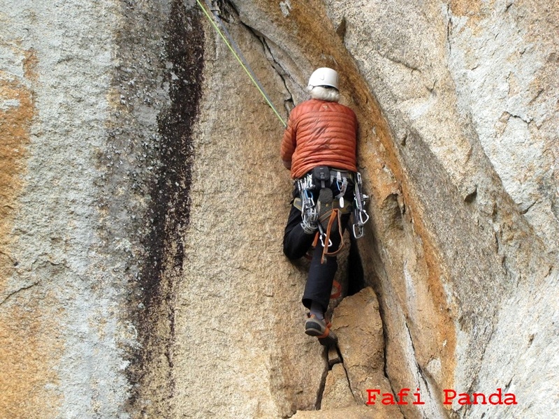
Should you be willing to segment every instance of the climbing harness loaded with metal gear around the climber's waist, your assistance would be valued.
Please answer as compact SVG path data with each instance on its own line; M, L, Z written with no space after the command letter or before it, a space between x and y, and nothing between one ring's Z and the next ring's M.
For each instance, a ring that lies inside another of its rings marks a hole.
M334 197L331 184L336 182L339 193ZM344 195L349 184L354 184L354 202L345 203ZM317 230L314 237L313 246L317 246L320 240L324 251L322 253L322 263L326 262L326 256L334 256L339 253L344 241L342 238L341 218L342 214L353 211L354 224L352 230L356 239L363 237L363 226L369 221L369 215L365 211L365 204L368 196L362 191L362 180L359 172L347 172L335 170L326 166L319 166L311 170L307 175L296 181L300 198L293 200L293 205L301 211L301 226L307 234L312 234ZM315 201L314 194L318 193ZM331 234L335 231L340 233L340 247L335 251L328 251L332 247Z

